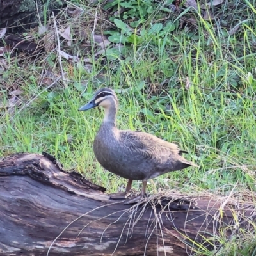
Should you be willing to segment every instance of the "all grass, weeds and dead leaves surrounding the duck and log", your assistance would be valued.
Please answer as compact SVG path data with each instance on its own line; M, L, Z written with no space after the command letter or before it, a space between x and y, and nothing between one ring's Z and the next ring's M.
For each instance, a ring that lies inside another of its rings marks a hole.
M102 111L77 111L109 86L120 101L120 129L175 142L200 165L150 180L148 193L232 194L255 203L255 6L71 0L58 15L45 9L40 26L22 35L44 51L0 57L0 157L46 151L109 193L124 189L93 155ZM217 254L196 255L256 255L254 228L214 239L222 244Z

